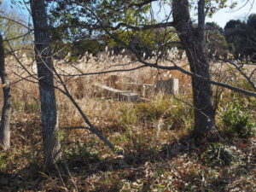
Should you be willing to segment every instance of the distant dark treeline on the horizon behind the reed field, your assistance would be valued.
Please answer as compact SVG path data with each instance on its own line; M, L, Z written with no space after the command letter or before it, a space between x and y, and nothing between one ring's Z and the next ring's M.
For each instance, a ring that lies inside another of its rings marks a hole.
M57 29L53 33L53 44L55 49L61 49L60 58L63 58L67 53L71 53L72 59L76 60L85 52L97 55L103 51L106 46L112 49L115 54L120 54L125 47L117 43L108 34L99 32L97 35L87 37L76 37L65 39L67 31ZM140 47L140 51L145 53L148 57L152 55L150 50L159 49L159 45L163 39L172 38L172 42L166 44L162 49L165 52L167 49L177 47L183 49L181 44L178 44L179 39L177 33L171 28L150 29L143 32L117 30L113 35L121 39L125 43L129 43L132 37L140 38L140 45L147 46ZM206 23L206 43L208 56L233 56L235 59L253 61L256 60L256 14L251 14L246 21L230 20L226 23L224 28L218 26L216 22Z

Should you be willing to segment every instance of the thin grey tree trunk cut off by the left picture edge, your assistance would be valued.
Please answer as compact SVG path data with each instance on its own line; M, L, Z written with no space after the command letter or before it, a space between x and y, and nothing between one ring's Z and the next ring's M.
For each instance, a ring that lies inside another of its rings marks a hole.
M3 84L3 110L2 118L0 123L0 143L3 144L3 149L10 147L10 131L9 122L12 110L12 101L9 87L9 80L7 73L5 72L4 64L4 49L3 49L3 38L0 34L0 76Z

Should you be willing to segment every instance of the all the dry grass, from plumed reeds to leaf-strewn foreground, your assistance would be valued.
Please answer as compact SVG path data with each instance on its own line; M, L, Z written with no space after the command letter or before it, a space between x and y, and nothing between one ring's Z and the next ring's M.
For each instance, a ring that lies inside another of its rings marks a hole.
M119 66L111 66L127 63L127 59L121 57L100 61L95 61L95 58L84 60L75 64L84 73L119 69ZM186 60L178 62L180 66L187 64ZM20 71L15 61L8 63L12 82L19 78L11 70L26 77L26 73ZM60 61L55 61L55 64L58 64L60 73L61 69L77 73L73 67L61 64ZM125 67L137 65L132 63ZM28 69L32 71L34 66ZM38 85L27 81L14 84L12 147L8 151L0 151L0 191L75 191L76 188L79 191L106 192L255 191L255 137L228 138L219 131L224 138L222 142L212 133L209 139L198 143L190 137L193 108L173 96L151 92L148 94L148 102L118 102L106 98L101 90L92 86L94 82L107 84L108 80L105 79L118 75L120 78L117 81L120 82L116 84L117 88L133 89L141 94L137 87L124 86L124 81L132 78L137 83L154 84L155 80L168 79L171 74L182 84L182 94L178 97L192 102L190 79L176 71L168 73L143 68L130 73L65 78L70 91L91 122L117 148L130 153L133 160L125 160L113 154L89 131L60 129L63 159L56 164L59 172L44 172L42 167ZM224 128L221 113L230 99L247 103L246 110L252 113L253 118L256 117L256 100L235 95L228 91L223 94L226 98L221 100L217 114L220 130ZM84 120L67 97L59 91L56 91L56 97L60 126L84 125ZM208 164L206 154L212 151L214 143L224 144L238 156L238 160L229 166Z

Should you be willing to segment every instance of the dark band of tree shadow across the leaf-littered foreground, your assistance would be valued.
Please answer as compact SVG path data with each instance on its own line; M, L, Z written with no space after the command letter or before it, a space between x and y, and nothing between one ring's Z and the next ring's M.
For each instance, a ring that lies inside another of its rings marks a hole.
M75 186L79 188L79 191L87 191L85 190L86 185L91 184L87 183L87 180L91 180L92 177L102 173L111 174L113 172L119 172L122 179L131 183L140 178L147 178L144 181L142 191L149 191L151 179L154 179L154 177L147 176L147 172L145 172L147 164L165 163L183 154L189 156L197 153L200 155L207 150L210 143L216 142L219 142L218 137L211 137L211 140L209 140L195 139L190 135L184 136L178 141L162 145L159 149L137 148L129 154L132 160L120 157L100 159L97 154L90 153L80 147L77 151L67 154L65 156L66 160L57 163L55 169L50 172L46 172L44 167L38 166L42 165L42 162L32 162L15 173L0 172L0 191L70 191L75 189ZM246 174L244 172L249 168L252 169L254 163L255 159L247 167L238 167L237 171L241 171L239 174ZM201 184L201 175L191 174L183 179L191 180L191 178L194 179L193 182ZM222 177L212 179L209 185L212 186L212 189L223 189L224 191L229 183L229 175L223 174ZM117 178L115 182L108 183L108 187L105 183L90 191L119 191L121 187L119 178Z

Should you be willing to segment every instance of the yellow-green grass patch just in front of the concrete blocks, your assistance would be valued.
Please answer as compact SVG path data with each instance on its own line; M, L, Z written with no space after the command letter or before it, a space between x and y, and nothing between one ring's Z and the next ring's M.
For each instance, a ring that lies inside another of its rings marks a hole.
M191 127L193 108L171 96L156 96L150 102L133 103L119 108L118 122L120 125L134 125L139 122L155 122L163 120L163 128Z

